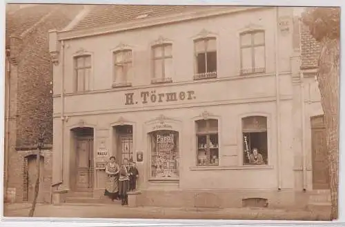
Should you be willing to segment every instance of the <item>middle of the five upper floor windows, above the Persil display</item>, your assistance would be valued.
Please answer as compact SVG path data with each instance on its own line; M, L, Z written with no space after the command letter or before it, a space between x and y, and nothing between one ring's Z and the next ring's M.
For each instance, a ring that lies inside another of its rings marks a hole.
M172 81L172 44L163 43L152 46L153 78L152 83Z

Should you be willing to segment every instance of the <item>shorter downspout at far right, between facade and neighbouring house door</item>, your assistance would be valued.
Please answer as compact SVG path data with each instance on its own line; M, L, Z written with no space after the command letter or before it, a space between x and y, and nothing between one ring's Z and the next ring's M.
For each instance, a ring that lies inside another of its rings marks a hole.
M306 116L306 106L304 104L304 75L303 72L301 72L300 75L301 78L301 120L302 120L302 170L303 170L303 191L306 191L307 188L307 176L306 176L306 120L304 119L304 116Z

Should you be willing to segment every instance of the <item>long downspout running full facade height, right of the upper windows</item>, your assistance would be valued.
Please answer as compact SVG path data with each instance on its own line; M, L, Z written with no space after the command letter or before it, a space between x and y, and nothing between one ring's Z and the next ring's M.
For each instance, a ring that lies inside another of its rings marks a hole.
M278 7L275 7L275 96L276 96L276 114L277 114L277 181L278 181L278 190L282 190L282 158L280 150L280 89L279 89L279 39L278 39L278 24L279 24L279 14Z

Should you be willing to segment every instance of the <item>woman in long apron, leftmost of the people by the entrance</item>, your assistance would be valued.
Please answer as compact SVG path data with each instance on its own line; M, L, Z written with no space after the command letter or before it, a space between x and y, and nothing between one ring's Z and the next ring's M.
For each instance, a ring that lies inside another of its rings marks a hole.
M106 164L106 191L104 195L108 196L112 201L119 197L119 165L116 163L114 156L110 157L110 161Z

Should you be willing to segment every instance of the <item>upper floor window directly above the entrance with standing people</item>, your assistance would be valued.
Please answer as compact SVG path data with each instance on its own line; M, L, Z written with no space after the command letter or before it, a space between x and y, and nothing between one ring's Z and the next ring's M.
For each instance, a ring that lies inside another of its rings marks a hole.
M130 79L132 79L132 50L114 52L114 64L115 72L112 86L130 86Z

